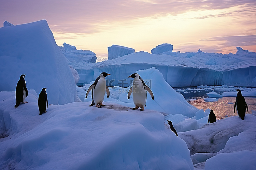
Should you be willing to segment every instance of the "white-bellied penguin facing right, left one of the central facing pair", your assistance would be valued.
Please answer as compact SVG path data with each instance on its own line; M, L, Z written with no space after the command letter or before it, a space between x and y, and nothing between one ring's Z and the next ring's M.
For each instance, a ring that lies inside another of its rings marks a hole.
M95 105L96 107L106 106L102 104L105 96L105 91L107 93L107 98L109 98L109 88L106 86L105 77L111 75L106 72L100 73L99 77L94 81L94 83L89 87L86 92L85 99L87 98L89 92L91 91L91 98L93 101L89 106Z

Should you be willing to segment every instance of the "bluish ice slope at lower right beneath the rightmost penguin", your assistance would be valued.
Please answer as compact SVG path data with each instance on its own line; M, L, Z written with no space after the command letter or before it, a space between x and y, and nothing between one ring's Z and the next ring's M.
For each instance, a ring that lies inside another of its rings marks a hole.
M206 160L205 170L255 169L255 121L252 114L246 114L244 120L232 116L178 134L187 143L194 162Z

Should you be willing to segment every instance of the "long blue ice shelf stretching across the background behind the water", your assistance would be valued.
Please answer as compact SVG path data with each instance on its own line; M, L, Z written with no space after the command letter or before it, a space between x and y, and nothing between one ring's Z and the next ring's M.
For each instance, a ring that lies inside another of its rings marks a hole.
M210 59L209 59L210 58ZM210 61L216 64L211 64ZM172 87L193 87L199 85L227 85L256 87L256 53L240 50L236 54L215 54L198 51L163 52L161 55L135 52L83 66L72 66L80 75L77 85L89 84L100 72L110 73L109 86L128 87L128 75L156 67ZM125 80L122 84L122 80Z

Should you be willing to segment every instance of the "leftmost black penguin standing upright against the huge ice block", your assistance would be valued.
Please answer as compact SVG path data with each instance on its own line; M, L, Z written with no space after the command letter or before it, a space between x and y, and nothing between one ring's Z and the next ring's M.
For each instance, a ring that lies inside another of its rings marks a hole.
M20 75L19 81L17 83L16 91L15 91L16 104L14 108L17 108L20 102L27 103L25 102L25 98L28 97L28 89L26 87L27 84L25 81L25 75L26 74Z

